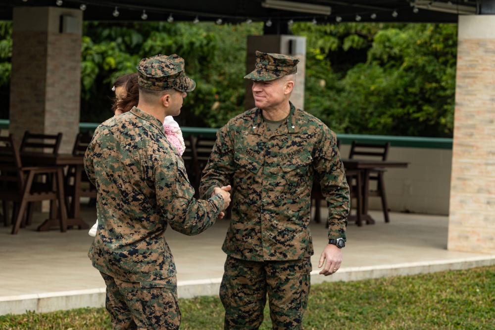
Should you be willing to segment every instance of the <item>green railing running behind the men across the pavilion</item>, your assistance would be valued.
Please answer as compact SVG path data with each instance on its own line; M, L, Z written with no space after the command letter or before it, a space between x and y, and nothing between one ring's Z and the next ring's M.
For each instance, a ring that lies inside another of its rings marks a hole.
M8 119L0 119L0 129L8 129ZM99 123L79 123L81 132L94 131ZM204 127L181 127L185 137L204 136L215 137L218 129ZM356 140L364 143L384 143L390 142L391 146L431 148L431 149L452 149L452 139L449 138L421 138L421 137L394 137L386 135L360 135L360 134L337 134L337 138L343 144L350 144Z

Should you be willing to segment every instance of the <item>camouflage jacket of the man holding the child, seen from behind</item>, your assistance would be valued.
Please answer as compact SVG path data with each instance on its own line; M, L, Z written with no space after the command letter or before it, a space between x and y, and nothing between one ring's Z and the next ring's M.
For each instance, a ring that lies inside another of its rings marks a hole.
M184 162L161 122L134 107L95 131L84 166L98 191L98 232L89 256L100 272L126 282L175 276L167 226L197 235L215 222L220 194L193 198Z

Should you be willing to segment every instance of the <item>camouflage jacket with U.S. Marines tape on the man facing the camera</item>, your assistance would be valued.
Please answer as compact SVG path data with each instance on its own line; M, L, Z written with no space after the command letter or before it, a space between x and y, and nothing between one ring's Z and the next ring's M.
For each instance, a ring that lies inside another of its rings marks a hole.
M328 202L328 238L346 239L349 187L335 133L291 103L287 122L269 131L261 109L231 119L217 133L199 187L232 185L232 219L222 249L250 260L297 260L313 254L313 176Z

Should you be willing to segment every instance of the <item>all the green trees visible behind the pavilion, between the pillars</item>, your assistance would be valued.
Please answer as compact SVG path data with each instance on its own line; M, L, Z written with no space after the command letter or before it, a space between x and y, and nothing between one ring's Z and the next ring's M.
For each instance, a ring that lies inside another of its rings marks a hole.
M221 127L244 111L247 36L261 24L85 22L81 121L111 116L118 76L141 58L176 53L197 82L177 118ZM453 24L295 23L307 38L305 110L337 133L451 137L457 26ZM0 22L0 118L8 118L10 22Z

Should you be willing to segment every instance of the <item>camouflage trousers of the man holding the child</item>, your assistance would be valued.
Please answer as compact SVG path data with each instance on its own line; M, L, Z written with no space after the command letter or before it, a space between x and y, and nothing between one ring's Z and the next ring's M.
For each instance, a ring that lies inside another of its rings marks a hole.
M177 278L124 282L101 273L106 284L106 310L112 330L179 329L181 311Z

